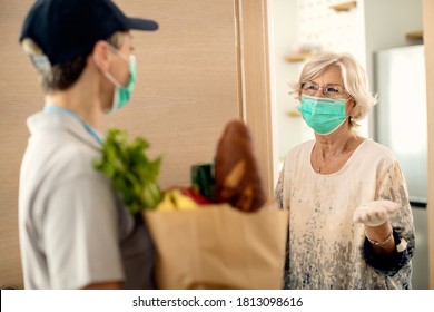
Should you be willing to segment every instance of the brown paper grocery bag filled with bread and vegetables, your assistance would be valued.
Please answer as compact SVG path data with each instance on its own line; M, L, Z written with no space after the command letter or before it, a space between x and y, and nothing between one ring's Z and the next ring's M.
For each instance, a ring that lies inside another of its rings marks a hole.
M280 289L288 212L146 212L159 289Z

